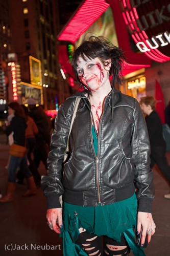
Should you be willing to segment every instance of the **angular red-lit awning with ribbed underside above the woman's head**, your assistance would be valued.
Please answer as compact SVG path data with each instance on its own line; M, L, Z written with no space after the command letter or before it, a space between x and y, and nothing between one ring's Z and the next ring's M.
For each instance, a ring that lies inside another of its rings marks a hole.
M123 49L127 57L127 65L123 75L136 70L151 66L152 60L142 53L134 53L130 47L129 34L123 19L118 1L112 0L85 0L75 12L75 15L69 20L65 28L58 35L59 40L70 41L72 44L79 39L90 26L98 19L108 7L112 8L114 22L116 27L118 45ZM66 46L59 47L59 62L64 66L67 73L75 78L72 73L72 67L69 63Z

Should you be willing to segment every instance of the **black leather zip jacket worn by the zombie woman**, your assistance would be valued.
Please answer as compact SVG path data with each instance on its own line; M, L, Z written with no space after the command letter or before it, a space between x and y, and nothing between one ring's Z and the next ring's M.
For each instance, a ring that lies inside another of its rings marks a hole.
M138 210L151 212L154 199L147 126L136 99L113 89L104 103L99 125L98 156L94 153L90 103L81 92L60 107L48 155L48 175L41 180L47 208L70 204L97 206L124 200L138 187ZM63 163L74 103L81 97ZM111 120L112 119L112 120Z

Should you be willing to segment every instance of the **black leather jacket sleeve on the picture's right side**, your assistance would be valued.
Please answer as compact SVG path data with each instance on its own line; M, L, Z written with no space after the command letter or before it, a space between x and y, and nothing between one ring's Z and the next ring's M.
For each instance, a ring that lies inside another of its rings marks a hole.
M134 127L131 140L132 158L135 165L135 181L138 188L138 211L151 212L154 199L153 173L150 168L150 141L147 125L140 105L135 99Z

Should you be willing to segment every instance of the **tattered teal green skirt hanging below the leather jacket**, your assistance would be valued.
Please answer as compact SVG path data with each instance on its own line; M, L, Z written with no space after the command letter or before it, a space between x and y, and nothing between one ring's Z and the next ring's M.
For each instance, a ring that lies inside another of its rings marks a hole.
M131 198L104 206L80 206L63 203L63 228L60 237L63 237L64 255L87 255L75 241L79 236L79 228L86 229L87 233L96 236L107 236L120 242L124 234L135 256L145 255L143 248L135 243L137 217L137 199L134 194Z

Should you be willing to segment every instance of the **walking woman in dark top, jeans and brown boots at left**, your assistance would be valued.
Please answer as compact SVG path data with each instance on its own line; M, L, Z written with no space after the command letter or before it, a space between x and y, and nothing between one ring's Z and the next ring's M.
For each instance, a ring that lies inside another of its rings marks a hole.
M13 132L14 144L25 147L26 145L26 127L27 120L21 105L18 102L11 102L8 104L9 115L14 114L10 124L6 127L5 133L9 136ZM36 195L36 185L32 173L30 172L27 164L26 155L23 157L16 157L11 155L8 165L8 188L7 194L0 199L1 203L13 201L15 188L16 188L16 170L20 166L21 172L26 177L28 182L28 191L23 196Z

